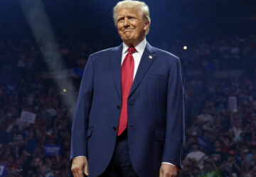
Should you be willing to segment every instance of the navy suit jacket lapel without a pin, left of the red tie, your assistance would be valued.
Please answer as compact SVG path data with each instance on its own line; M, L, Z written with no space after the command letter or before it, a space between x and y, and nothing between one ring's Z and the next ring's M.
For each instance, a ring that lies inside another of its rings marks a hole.
M112 76L114 79L114 85L117 90L120 101L122 101L121 92L121 59L122 59L122 45L114 47L112 54L110 55Z

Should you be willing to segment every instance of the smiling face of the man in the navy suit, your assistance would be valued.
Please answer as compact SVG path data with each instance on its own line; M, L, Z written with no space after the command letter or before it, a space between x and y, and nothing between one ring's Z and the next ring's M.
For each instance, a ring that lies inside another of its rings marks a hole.
M117 12L117 30L126 45L135 47L145 38L149 22L137 8L120 8Z

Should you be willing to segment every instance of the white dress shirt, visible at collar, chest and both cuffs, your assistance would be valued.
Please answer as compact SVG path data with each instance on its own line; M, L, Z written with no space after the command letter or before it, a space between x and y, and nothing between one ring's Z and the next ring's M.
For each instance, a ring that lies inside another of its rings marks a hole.
M123 50L122 50L122 61L121 61L121 66L122 66L122 62L124 62L124 57L127 55L127 53L129 52L128 49L129 47L123 42L122 43L123 46ZM134 76L133 79L135 78L135 75L137 73L138 67L139 67L139 62L142 59L142 54L144 52L146 48L146 38L144 38L144 40L142 40L142 42L139 42L139 44L137 46L135 46L135 49L137 50L137 52L134 52L132 54L132 57L134 57ZM79 156L76 156L75 158L77 158ZM73 158L73 159L75 159ZM175 166L174 164L171 164L169 162L165 162L163 161L161 164L169 164L171 166Z

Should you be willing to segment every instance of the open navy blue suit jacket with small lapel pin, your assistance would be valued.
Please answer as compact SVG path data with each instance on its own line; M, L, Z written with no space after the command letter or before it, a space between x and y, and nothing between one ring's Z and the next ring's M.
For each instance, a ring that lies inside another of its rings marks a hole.
M89 176L110 163L117 139L122 45L90 55L72 127L70 159L87 156ZM128 97L128 144L138 176L159 176L162 161L181 166L184 90L175 55L147 42Z

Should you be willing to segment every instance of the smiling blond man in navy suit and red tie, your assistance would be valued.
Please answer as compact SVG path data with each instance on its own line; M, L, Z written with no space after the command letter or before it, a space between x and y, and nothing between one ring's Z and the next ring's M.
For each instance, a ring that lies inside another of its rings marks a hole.
M149 45L149 8L120 1L122 45L90 55L72 127L71 170L83 176L176 176L182 168L184 91L175 55Z

